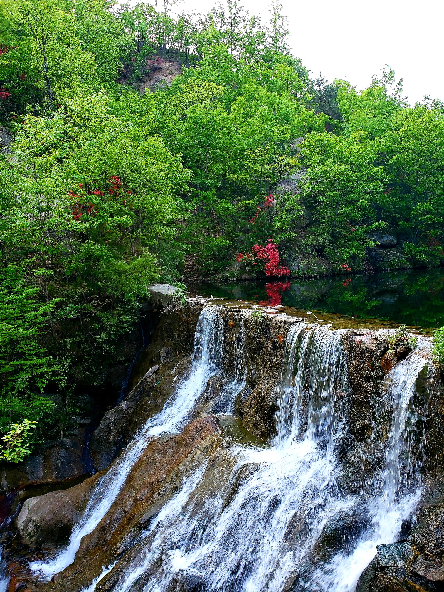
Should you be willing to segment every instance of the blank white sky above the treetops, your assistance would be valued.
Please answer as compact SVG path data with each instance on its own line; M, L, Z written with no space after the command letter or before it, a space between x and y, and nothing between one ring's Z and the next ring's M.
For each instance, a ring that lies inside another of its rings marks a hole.
M424 94L444 101L443 0L282 0L293 53L311 75L368 86L388 63L404 79L413 104ZM176 10L207 12L224 0L182 0ZM243 0L250 13L268 18L268 2Z

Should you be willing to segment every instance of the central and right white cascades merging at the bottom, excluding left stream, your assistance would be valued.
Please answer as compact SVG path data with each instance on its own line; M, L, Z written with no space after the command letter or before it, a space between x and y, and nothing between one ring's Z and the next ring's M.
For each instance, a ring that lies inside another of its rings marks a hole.
M218 461L220 481L201 471L189 478L181 511L153 523L143 554L120 576L114 592L139 589L137 581L147 570L154 575L143 592L163 592L179 575L201 579L209 592L280 592L288 581L295 590L352 592L376 545L397 539L420 497L419 472L404 467L411 462L410 436L418 417L416 381L426 363L413 353L387 377L381 404L392 413L385 466L373 494L349 496L338 485L336 449L345 429L340 397L348 390L342 332L293 325L272 447L233 446ZM229 478L227 461L235 463ZM193 479L199 485L191 493ZM349 552L310 567L324 527L362 503L370 519Z

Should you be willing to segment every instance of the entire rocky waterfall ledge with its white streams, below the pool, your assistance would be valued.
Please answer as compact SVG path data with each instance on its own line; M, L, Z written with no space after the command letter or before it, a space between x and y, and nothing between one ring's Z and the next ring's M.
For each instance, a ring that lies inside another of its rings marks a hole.
M94 474L9 488L5 590L442 590L430 338L172 293L152 288L157 327L92 434Z

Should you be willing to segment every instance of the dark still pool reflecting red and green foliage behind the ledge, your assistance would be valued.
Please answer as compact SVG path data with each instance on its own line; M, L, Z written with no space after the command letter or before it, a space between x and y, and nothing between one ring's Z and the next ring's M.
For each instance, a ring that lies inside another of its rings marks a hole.
M443 268L222 286L202 284L198 294L358 319L376 318L428 330L444 325Z

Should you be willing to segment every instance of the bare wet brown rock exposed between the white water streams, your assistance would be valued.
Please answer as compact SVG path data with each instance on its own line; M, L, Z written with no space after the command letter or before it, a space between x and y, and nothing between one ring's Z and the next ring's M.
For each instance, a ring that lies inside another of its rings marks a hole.
M158 304L153 303L153 307L161 305L160 301ZM133 439L141 424L162 409L175 391L178 381L186 375L202 305L192 301L180 310L170 310L160 317L152 341L134 370L130 393L117 407L105 414L92 437L91 451L96 469L112 464L121 449ZM179 490L185 475L189 475L193 467L201 465L204 458L208 459L207 467L211 471L211 465L215 463L221 449L221 429L212 414L218 413L221 390L236 375L236 346L238 350L242 346L241 316L244 316L245 329L242 353L247 356L247 369L246 385L235 402L236 412L240 416L239 423L242 420L243 426L256 436L268 440L274 437L285 340L289 328L297 319L277 314L254 318L250 312L239 310L223 310L222 316L224 371L214 375L208 382L192 416L190 414L188 418L189 423L184 432L150 442L128 475L111 509L94 532L82 540L74 564L45 585L33 578L23 580L30 590L82 590L101 573L103 565L112 565L118 561L114 570L97 586L97 590L112 590L120 575L146 545L145 539L143 543L140 541L141 532L149 529L159 510ZM372 473L376 474L384 461L381 454L378 456L370 445L375 404L381 396L381 384L387 372L410 351L403 350L401 346L389 349L387 337L391 333L390 330L349 330L343 335L350 388L347 392L337 394L335 406L337 413L347 419L344 435L338 442L343 473L340 486L352 494L358 494L366 481L371 482ZM424 410L423 401L416 403L418 409ZM425 427L429 458L426 468L430 475L439 474L444 466L444 428L440 427L444 426L443 414L442 392L439 397L434 396L430 403ZM247 464L233 478L231 487L226 491L227 504L234 496L239 482L248 478L256 468L254 464ZM94 475L92 480L86 480L69 490L27 500L18 517L18 531L23 543L38 549L42 543L57 545L66 542L73 524L91 497L91 487L97 478ZM444 507L443 499L442 493L437 491L435 497L427 502L429 509L423 506L420 510L422 514L419 514L411 532L404 529L405 540L397 543L398 546L391 543L381 546L378 558L362 575L358 590L411 592L443 589L439 587L442 585L439 577L444 552L444 533L441 532L441 520L444 524L444 518L441 517L440 509ZM340 514L337 520L329 523L310 559L313 561L313 570L318 561L329 558L332 550L339 551L345 545L351 545L358 538L365 520L366 517L359 513L358 508L352 513ZM295 520L286 534L286 544L297 544L298 529L304 526ZM430 529L433 531L431 536ZM142 578L138 581L134 591L142 590L152 575L147 573L146 580ZM285 590L298 590L298 577L297 574L294 576L294 588L289 581L288 585L285 584ZM413 587L404 586L407 580L414 584L411 584ZM200 577L191 577L180 571L168 588L177 592L198 592L204 589L205 582Z

